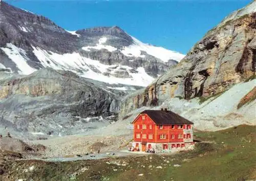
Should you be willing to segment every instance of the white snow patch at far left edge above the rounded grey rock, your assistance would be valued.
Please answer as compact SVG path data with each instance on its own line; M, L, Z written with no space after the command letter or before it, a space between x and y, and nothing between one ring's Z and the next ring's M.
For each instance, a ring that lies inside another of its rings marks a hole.
M1 48L5 54L16 64L19 74L28 75L36 71L31 66L28 65L27 60L29 58L26 55L25 50L20 49L12 43L7 43L6 47Z

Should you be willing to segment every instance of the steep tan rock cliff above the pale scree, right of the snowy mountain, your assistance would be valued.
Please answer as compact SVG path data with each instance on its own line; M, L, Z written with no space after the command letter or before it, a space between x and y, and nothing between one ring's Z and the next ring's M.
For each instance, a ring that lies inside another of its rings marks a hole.
M256 2L226 17L146 89L126 97L121 115L174 97L209 97L255 75Z

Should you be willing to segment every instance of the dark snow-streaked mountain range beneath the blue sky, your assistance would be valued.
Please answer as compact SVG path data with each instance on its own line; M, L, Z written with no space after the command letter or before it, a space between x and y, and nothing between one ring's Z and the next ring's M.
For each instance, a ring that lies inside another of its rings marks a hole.
M4 71L28 75L52 67L110 84L146 86L184 57L142 43L116 26L67 31L3 1L0 39Z

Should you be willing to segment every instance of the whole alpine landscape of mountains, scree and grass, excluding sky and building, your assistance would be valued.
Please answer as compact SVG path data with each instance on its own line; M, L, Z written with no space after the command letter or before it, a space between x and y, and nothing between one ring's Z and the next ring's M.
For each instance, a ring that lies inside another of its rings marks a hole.
M256 179L256 0L187 55L0 3L0 179ZM161 108L194 123L194 149L130 154L131 122Z

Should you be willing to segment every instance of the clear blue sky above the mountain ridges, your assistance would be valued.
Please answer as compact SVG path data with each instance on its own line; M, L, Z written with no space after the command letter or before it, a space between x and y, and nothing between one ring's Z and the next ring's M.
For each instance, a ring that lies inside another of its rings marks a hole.
M142 42L186 54L229 13L251 0L5 0L66 30L119 26Z

